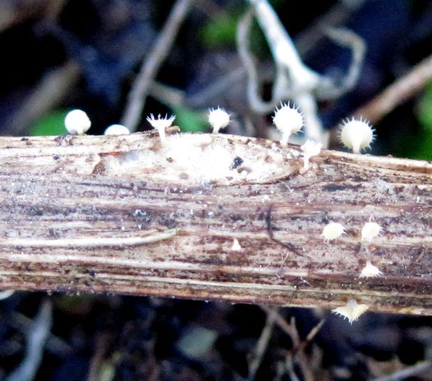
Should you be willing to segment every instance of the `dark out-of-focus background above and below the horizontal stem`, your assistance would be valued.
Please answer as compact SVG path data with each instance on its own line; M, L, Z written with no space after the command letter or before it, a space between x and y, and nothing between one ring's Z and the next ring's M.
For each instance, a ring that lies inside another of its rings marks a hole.
M432 53L428 0L270 2L304 62L320 73L341 76L350 52L321 38L317 17L337 9L330 20L367 43L353 91L320 104L325 128L337 126ZM65 114L74 108L91 118L88 133L101 134L119 123L174 3L1 0L0 134L63 134ZM157 71L138 130L150 127L144 115L170 113L182 130L208 131L208 108L220 105L232 114L227 133L272 137L271 115L251 112L245 96L236 27L246 8L245 0L193 2ZM263 77L261 95L268 99L274 64L257 24L251 36ZM432 160L432 83L375 128L372 154ZM337 142L332 148L341 149ZM52 325L42 314L47 304L52 304ZM288 322L295 317L301 338L326 317L306 350L316 380L373 379L432 360L431 317L367 313L351 327L325 311L281 308L279 313ZM265 319L259 306L15 292L0 301L0 378L20 381L11 372L27 359L33 361L29 379L34 380L247 380ZM47 341L31 349L30 338L40 327L49 328ZM41 358L29 358L29 348ZM275 327L256 380L290 380L280 368L292 348ZM299 369L294 371L302 380Z

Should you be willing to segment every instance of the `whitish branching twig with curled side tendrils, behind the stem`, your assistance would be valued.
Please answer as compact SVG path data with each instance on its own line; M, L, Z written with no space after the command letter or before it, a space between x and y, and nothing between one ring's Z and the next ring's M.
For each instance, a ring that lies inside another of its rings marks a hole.
M364 57L364 43L355 33L346 29L330 29L327 34L334 42L350 47L353 61L344 81L335 84L329 77L320 75L308 68L295 49L295 45L281 24L275 10L267 0L249 0L252 8L247 11L238 26L237 46L240 58L247 68L247 97L252 110L259 113L269 112L279 100L292 99L304 114L307 126L306 136L327 145L323 127L318 118L316 100L336 98L351 89L360 73ZM259 80L249 52L249 29L252 22L252 9L268 40L270 51L277 68L270 102L261 100Z

